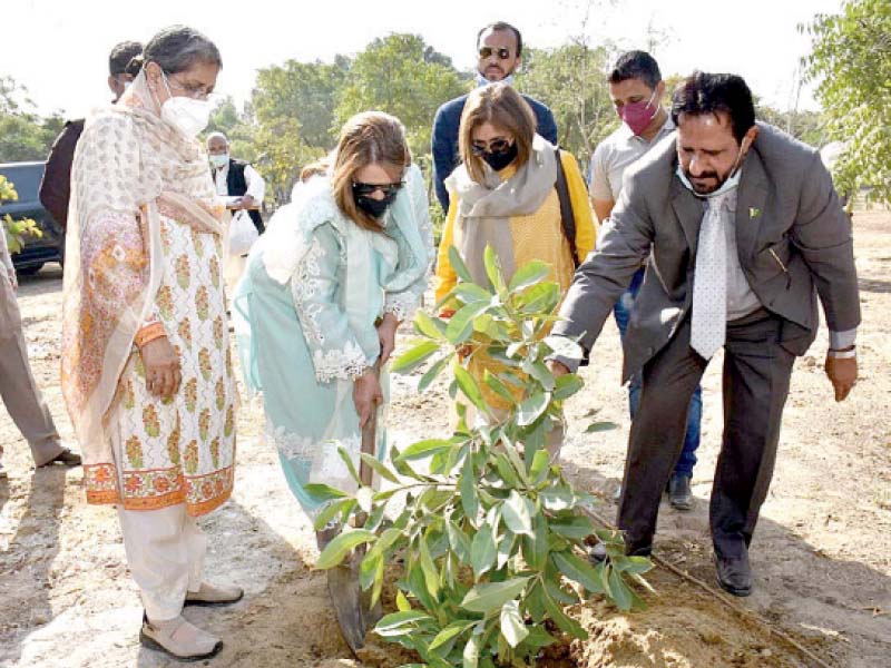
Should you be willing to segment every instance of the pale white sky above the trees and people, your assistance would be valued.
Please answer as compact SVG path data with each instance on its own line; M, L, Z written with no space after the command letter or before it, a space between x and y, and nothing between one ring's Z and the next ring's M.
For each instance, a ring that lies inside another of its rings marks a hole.
M810 40L797 26L842 0L9 0L3 2L0 76L28 88L42 114L84 116L110 98L108 52L123 40L148 41L172 23L193 26L223 55L217 90L242 102L256 70L287 59L331 61L375 37L420 33L459 69L476 65L476 33L495 20L517 26L523 42L549 48L584 35L621 49L653 50L664 76L694 69L742 75L770 105L790 109L799 90L799 60ZM585 17L587 16L587 21ZM547 102L547 100L545 100ZM799 108L815 109L805 85Z

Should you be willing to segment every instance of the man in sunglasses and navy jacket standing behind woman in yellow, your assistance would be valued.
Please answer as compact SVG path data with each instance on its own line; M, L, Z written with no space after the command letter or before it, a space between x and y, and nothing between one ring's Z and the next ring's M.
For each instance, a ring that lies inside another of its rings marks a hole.
M477 35L477 85L495 81L513 82L513 72L522 62L522 36L510 23L490 23ZM557 124L554 114L537 99L522 96L538 120L538 134L557 145ZM458 129L467 96L462 95L442 105L433 119L433 186L442 210L449 213L449 190L446 179L458 167Z

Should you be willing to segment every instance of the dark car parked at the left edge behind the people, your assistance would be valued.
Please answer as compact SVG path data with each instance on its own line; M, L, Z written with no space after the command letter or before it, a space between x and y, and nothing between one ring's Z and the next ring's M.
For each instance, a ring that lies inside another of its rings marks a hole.
M43 208L38 197L40 179L43 178L45 163L0 164L0 174L7 177L19 194L18 202L7 202L0 206L0 217L9 214L13 218L32 218L41 237L25 237L25 248L12 255L12 264L19 274L33 274L48 262L62 264L65 259L65 230Z

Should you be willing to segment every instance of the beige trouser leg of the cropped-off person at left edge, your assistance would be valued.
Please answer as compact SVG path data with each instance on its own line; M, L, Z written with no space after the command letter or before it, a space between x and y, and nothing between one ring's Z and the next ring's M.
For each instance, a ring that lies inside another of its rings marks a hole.
M46 464L65 450L31 374L19 305L12 284L3 271L0 271L0 396L16 426L31 446L35 464ZM0 455L2 453L0 445Z

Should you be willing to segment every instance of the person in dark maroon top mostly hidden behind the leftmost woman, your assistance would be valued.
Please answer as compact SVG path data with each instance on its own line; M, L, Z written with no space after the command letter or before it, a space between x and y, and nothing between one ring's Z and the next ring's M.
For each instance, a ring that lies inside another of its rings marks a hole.
M133 63L134 58L143 52L143 45L136 41L125 41L115 45L108 56L108 88L117 102L134 77L139 72L138 65ZM75 147L84 131L84 119L69 120L56 138L47 158L43 169L43 180L40 183L40 203L53 220L62 229L68 226L68 199L71 191L71 163L75 159Z

